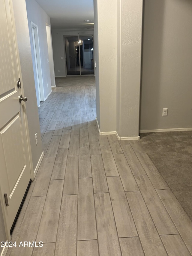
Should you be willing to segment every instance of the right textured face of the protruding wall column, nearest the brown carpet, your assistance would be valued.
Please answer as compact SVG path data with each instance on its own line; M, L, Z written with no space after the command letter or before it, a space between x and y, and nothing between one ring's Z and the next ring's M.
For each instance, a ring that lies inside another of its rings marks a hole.
M118 3L119 4L119 3ZM141 37L142 37L142 0L120 1L118 19L118 84L117 96L120 99L118 127L120 137L139 135L140 74L141 74Z

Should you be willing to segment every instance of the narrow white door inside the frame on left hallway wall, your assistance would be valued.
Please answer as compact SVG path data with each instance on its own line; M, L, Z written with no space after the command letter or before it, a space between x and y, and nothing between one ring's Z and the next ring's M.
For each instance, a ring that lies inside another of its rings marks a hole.
M34 50L34 58L35 58L35 89L36 89L36 97L37 97L37 104L40 107L41 101L41 93L40 93L40 85L39 85L39 72L38 72L38 62L37 62L37 50L36 50L36 42L35 42L35 28L32 27L32 37L33 37L33 50Z

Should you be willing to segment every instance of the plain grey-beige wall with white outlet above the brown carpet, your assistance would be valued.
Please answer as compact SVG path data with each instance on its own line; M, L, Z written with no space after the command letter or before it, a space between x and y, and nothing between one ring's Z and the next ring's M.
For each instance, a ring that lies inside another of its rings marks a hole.
M141 130L192 127L191 49L192 1L145 0Z

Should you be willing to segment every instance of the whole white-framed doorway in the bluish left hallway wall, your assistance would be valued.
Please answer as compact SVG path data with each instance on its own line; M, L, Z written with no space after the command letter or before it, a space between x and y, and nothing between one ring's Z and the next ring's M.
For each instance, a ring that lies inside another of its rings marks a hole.
M38 27L35 23L31 22L32 28L32 40L33 40L33 51L34 51L34 79L35 79L35 89L37 104L40 107L40 102L45 100L44 88L43 88L43 77L41 70L41 56L39 47L39 37L38 37Z

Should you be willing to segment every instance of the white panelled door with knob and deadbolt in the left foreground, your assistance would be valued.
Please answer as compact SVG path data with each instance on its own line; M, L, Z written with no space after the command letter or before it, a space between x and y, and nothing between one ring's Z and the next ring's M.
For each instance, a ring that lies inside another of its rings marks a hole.
M0 199L7 234L31 178L25 103L19 103L22 88L16 85L19 59L10 4L9 0L0 0ZM4 193L9 206L5 205Z

